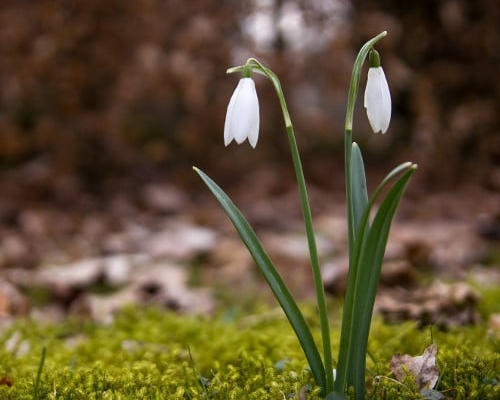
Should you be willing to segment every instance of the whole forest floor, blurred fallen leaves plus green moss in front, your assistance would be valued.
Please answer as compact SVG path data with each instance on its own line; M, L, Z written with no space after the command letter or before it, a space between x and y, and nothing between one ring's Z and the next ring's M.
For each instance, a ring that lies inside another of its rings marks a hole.
M294 397L306 398L305 388L313 386L293 332L201 182L194 191L160 181L133 189L110 185L99 195L71 180L47 186L37 173L24 171L31 180L10 175L0 185L1 393L26 399L40 393L156 399L165 393L221 398L227 391L227 398L262 399L292 390ZM296 190L263 171L227 192L314 321ZM345 204L340 195L314 185L309 194L331 322L338 327L348 268ZM439 392L425 398L444 398L436 397L441 392L495 398L499 205L499 193L472 185L425 194L410 189L404 197L370 335L370 368L389 378L372 379L369 398L415 393L411 384L392 378L389 360L408 360L398 352L422 354L429 332L439 344L438 367L446 373ZM418 329L428 326L430 331ZM334 347L338 335L333 329ZM46 348L50 365L38 389L34 368ZM213 397L208 388L215 390ZM317 390L307 398L319 398Z

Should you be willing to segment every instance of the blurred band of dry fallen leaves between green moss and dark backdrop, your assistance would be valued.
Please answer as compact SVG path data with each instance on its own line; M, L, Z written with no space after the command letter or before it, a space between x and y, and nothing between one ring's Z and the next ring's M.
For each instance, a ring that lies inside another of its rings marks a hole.
M133 190L110 186L100 196L68 179L48 186L40 168L21 173L1 184L0 318L76 313L100 320L126 304L211 313L234 299L271 301L201 181L191 192L151 182ZM311 299L295 189L260 171L227 191L292 292ZM347 274L344 201L314 185L309 192L325 286L340 297ZM389 319L473 323L477 299L467 285L500 284L499 207L498 192L473 185L434 193L410 187L390 234L377 311Z

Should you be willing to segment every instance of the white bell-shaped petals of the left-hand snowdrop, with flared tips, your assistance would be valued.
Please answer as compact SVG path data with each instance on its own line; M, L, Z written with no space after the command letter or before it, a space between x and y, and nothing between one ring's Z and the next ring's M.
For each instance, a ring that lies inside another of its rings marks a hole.
M252 78L241 78L227 106L224 144L234 139L240 144L248 138L255 148L259 139L259 99Z

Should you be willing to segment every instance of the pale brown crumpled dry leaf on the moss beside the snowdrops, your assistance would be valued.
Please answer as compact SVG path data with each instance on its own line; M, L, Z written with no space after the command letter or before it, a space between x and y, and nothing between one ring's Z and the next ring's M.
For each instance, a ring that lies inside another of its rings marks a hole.
M410 374L415 378L418 389L432 389L439 377L439 369L436 367L437 346L431 344L421 356L412 357L408 354L395 354L391 360L391 371L399 382L403 382Z

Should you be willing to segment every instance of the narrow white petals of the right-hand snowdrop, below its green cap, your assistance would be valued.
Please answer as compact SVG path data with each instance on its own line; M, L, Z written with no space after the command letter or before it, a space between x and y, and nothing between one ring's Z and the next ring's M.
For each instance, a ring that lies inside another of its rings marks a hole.
M373 132L385 133L391 122L391 93L382 67L368 70L365 108Z

